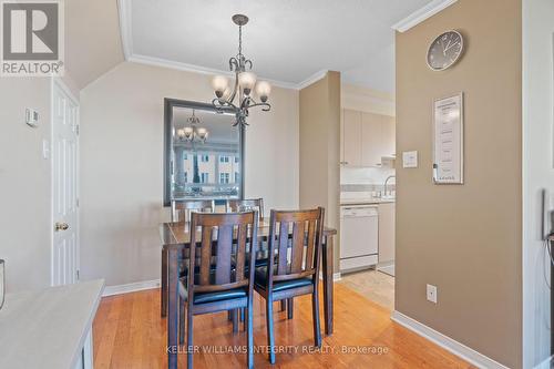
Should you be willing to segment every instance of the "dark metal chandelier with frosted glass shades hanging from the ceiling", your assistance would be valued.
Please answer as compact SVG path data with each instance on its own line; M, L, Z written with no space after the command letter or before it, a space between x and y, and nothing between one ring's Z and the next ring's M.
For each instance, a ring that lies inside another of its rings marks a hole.
M232 89L225 75L214 76L212 86L216 98L212 101L212 104L219 112L223 112L224 107L226 110L230 109L236 116L236 122L233 126L245 126L248 125L246 123L248 109L260 106L264 112L268 112L271 109L271 105L267 102L271 92L271 85L267 81L258 81L256 83L256 74L250 72L253 63L243 54L243 25L248 23L248 17L235 14L232 19L238 25L238 54L229 59L229 70L235 73L235 85ZM260 102L254 100L254 89Z

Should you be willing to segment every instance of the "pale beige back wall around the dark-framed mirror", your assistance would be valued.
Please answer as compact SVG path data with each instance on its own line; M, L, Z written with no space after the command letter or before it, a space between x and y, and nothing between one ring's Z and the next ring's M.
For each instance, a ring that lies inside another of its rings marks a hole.
M160 278L164 98L211 101L209 75L122 63L81 92L81 269L106 285ZM298 207L298 92L274 88L246 133L247 197Z

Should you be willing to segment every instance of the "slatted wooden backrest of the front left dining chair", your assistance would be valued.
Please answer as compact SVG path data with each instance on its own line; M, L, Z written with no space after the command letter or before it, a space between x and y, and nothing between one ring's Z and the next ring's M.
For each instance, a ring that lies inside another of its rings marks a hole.
M246 254L256 250L258 215L248 213L193 213L191 219L191 257L188 294L218 291L254 286L255 259L250 258L245 276ZM199 255L196 255L199 253ZM252 255L252 254L250 254ZM195 270L196 269L196 270ZM195 276L195 271L198 273ZM192 301L192 299L189 299Z

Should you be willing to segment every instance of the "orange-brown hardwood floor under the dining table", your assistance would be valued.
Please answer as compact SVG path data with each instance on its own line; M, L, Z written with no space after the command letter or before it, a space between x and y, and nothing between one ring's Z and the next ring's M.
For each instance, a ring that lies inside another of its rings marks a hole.
M324 336L320 352L314 350L310 297L295 298L295 316L275 316L277 352L275 366L267 355L255 353L256 368L472 368L465 361L390 320L390 311L343 285L335 285L335 334ZM222 351L246 345L240 329L233 335L227 314L195 317L195 368L244 368L245 353ZM160 290L105 297L93 324L94 368L165 368L166 321L160 317ZM265 348L265 307L254 301L254 340ZM365 353L343 352L365 350ZM298 351L296 351L298 350ZM186 353L179 355L186 368Z

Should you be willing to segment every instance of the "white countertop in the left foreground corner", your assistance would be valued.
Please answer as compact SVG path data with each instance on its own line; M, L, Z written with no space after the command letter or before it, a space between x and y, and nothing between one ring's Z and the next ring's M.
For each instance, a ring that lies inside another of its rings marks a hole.
M0 368L74 368L103 289L93 280L6 295Z

